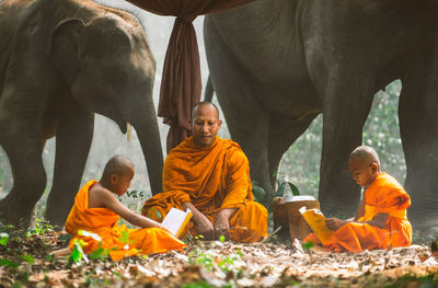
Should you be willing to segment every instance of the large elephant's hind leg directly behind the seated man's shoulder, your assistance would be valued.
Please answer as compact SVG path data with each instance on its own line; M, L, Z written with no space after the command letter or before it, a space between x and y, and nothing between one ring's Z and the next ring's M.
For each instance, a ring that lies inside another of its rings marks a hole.
M206 20L207 55L212 85L222 107L231 138L250 161L251 178L266 191L265 205L270 204L274 187L268 163L269 113L258 103L267 97L262 84L252 77L229 50L211 21ZM212 41L214 39L214 41ZM226 73L223 71L227 71Z

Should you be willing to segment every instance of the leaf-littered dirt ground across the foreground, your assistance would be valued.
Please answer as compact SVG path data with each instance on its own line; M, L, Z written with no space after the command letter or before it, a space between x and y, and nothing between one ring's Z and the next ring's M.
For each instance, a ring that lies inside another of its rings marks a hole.
M438 287L427 245L336 254L299 241L196 241L184 252L80 265L47 255L67 242L59 232L11 238L0 245L0 287Z

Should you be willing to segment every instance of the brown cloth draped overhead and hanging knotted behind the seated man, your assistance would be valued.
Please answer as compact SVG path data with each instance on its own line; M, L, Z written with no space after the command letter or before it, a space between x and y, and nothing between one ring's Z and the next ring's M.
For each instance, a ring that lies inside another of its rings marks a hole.
M158 116L171 128L168 152L191 134L191 114L199 102L199 51L192 22L198 15L219 12L254 0L127 0L159 15L176 16L165 54Z

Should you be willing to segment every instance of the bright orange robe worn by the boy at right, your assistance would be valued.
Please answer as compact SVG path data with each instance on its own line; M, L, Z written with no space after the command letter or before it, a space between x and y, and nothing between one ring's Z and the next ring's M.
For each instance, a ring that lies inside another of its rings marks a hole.
M406 217L411 198L402 185L385 172L380 173L365 191L365 215L357 222L350 222L333 234L327 247L335 251L360 252L387 249L390 245L408 246L412 242L412 227ZM361 221L372 220L377 214L389 214L383 229ZM310 234L304 242L314 240Z

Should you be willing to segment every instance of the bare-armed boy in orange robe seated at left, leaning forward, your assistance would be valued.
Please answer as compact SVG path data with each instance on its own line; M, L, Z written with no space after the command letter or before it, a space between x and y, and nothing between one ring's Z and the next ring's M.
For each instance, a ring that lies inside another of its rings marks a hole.
M76 239L81 239L87 242L84 253L99 247L108 249L111 258L117 261L139 253L162 253L185 246L184 242L160 229L160 223L130 211L117 200L115 194L122 196L126 193L134 173L134 164L128 159L115 155L106 163L100 182L90 181L78 192L66 221L66 231L73 235L70 249L73 249ZM119 217L142 229L118 226ZM93 232L99 238L80 230ZM127 234L129 239L126 241Z

